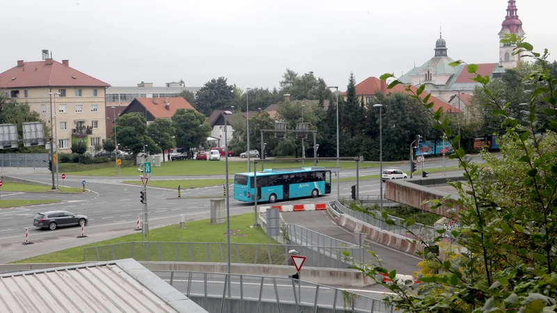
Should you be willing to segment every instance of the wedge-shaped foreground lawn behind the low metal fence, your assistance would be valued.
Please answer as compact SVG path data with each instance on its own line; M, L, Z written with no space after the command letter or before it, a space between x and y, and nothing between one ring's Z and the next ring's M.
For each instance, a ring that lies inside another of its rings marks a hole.
M271 241L265 232L260 227L250 228L253 225L253 214L242 214L230 217L230 230L233 234L230 236L231 243L274 243ZM183 262L189 262L194 259L194 262L207 262L207 245L200 244L201 242L212 242L209 246L210 262L221 262L221 248L225 255L226 262L226 223L219 225L212 225L210 220L194 220L186 223L185 229L178 228L178 225L171 225L166 227L151 230L149 234L150 241L171 241L180 242L178 251L179 259ZM115 247L114 253L118 259L130 257L132 241L141 241L141 232L135 232L127 236L121 236L115 239L91 243L86 246L79 246L58 252L48 253L46 255L39 255L38 257L31 257L23 259L15 263L50 263L50 262L82 262L84 260L84 248L93 246L102 246L115 243L122 243L120 246ZM187 242L191 245L188 246ZM195 242L200 242L196 244ZM224 243L224 244L222 244ZM175 260L175 243L161 244L161 255L164 261ZM190 255L191 248L191 255ZM231 246L233 249L234 260L237 260L236 246ZM238 254L240 259L245 260L246 263L253 263L255 256L256 246L238 246ZM280 250L280 251L279 251ZM94 249L86 250L86 261L96 260L96 252ZM101 259L113 259L112 249L110 246L106 248L99 248L99 255ZM279 259L282 257L282 261ZM146 246L141 243L134 244L134 258L139 261L146 260ZM249 261L251 258L251 261ZM272 251L273 263L284 262L284 250L276 249ZM159 253L157 246L150 246L149 258L150 261L159 261ZM267 250L263 250L262 246L258 252L258 259L265 262L267 257ZM262 263L263 264L263 263Z

